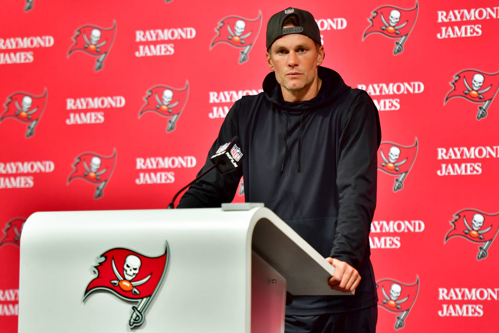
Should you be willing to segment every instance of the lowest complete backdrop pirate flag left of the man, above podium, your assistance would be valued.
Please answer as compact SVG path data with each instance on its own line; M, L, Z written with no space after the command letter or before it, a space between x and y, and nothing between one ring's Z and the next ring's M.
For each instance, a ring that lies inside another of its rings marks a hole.
M98 184L95 189L94 199L104 195L106 186L116 164L116 150L111 156L102 156L96 153L83 153L76 156L73 164L73 172L67 179L67 184L73 179L84 179L89 183Z

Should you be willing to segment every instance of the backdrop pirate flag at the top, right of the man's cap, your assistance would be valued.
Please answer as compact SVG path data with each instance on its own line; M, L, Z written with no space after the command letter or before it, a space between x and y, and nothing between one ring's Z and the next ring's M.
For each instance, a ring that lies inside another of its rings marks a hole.
M364 31L362 40L371 33L381 33L389 38L398 38L395 41L393 54L397 55L404 50L404 43L416 23L418 17L418 2L411 9L403 9L394 6L381 6L372 12L369 22L371 25Z

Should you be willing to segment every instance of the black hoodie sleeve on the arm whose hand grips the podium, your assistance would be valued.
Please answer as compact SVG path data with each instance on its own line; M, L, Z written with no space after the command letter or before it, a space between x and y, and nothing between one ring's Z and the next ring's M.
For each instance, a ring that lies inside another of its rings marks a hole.
M336 185L339 211L331 257L358 269L365 256L376 208L377 151L381 142L379 114L361 91L343 118Z

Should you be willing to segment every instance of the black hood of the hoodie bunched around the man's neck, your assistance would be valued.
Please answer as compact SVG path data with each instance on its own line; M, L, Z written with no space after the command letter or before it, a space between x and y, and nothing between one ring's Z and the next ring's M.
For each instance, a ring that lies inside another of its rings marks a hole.
M302 102L287 102L282 99L282 91L279 83L275 79L275 73L270 72L263 80L263 93L266 99L280 108L295 111L311 110L322 107L325 104L331 104L345 92L350 89L341 76L334 70L318 66L317 75L322 80L317 96L310 100Z

